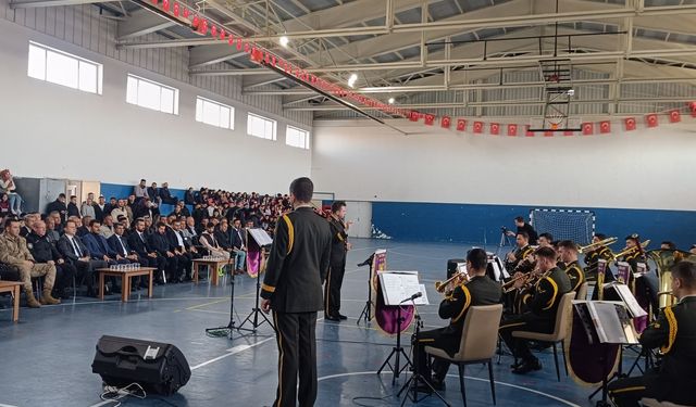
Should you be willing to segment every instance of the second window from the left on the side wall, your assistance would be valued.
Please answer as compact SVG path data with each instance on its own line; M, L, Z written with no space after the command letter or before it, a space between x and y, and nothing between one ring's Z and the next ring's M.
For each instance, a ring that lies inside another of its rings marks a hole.
M178 89L128 74L126 102L162 113L178 114Z

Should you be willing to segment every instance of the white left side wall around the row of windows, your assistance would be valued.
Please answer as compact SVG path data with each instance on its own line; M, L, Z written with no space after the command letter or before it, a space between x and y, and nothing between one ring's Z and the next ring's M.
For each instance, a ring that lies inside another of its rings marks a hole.
M28 41L35 40L104 65L103 94L79 92L27 77ZM141 177L173 188L201 185L243 191L286 191L310 173L311 154L246 135L249 106L184 82L136 68L0 18L1 167L23 177L98 179L134 183ZM179 89L179 114L127 104L126 74ZM195 122L196 96L236 107L235 130Z

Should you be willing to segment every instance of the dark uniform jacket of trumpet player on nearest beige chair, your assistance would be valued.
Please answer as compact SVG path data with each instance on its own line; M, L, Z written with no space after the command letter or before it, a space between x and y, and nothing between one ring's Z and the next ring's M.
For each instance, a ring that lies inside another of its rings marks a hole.
M468 283L458 285L452 293L439 304L439 317L450 319L443 335L455 335L461 339L464 319L469 308L476 305L500 304L502 288L488 276L475 276Z

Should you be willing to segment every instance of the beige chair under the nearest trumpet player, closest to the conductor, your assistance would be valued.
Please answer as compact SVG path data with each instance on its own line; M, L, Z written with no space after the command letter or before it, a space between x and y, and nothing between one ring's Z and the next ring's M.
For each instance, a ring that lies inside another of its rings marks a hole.
M467 313L464 330L459 344L459 352L451 357L447 352L432 346L425 346L425 353L457 365L459 367L459 386L461 399L467 407L467 392L464 390L464 367L467 365L488 364L488 380L493 404L496 404L496 385L493 380L493 356L496 353L498 326L502 316L502 305L473 306Z

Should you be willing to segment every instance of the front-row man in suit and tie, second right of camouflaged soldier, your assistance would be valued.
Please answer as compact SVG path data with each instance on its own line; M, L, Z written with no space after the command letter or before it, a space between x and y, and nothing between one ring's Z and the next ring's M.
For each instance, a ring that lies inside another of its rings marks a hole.
M76 236L77 224L75 220L65 222L64 234L58 241L58 251L66 262L75 266L76 276L87 283L87 295L97 296L95 287L95 270L109 266L107 262L91 258L91 254L85 244Z

